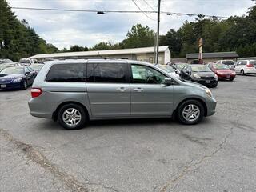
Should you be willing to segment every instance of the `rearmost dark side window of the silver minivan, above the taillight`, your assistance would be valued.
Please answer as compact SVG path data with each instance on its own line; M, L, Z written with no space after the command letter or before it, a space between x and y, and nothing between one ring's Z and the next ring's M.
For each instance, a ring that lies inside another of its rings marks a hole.
M76 64L58 64L50 68L46 76L47 82L85 82L85 65Z

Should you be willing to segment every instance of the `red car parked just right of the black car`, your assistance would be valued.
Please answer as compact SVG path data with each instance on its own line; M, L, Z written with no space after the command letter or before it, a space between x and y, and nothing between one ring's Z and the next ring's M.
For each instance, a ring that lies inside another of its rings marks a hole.
M235 78L236 74L234 70L230 70L230 68L224 64L210 63L208 66L212 71L214 71L215 74L218 75L219 80L229 79L230 81L233 81Z

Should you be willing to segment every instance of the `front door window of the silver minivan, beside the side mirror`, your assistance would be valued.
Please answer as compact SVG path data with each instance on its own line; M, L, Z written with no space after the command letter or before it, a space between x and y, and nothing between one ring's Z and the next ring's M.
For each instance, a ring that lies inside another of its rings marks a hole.
M132 82L161 84L166 76L149 66L132 65Z

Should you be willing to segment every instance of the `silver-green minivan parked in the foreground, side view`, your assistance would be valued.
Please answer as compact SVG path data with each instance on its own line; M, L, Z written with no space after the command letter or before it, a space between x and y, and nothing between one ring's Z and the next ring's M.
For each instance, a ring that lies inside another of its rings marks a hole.
M205 86L185 82L147 62L108 58L46 62L34 80L30 114L74 130L113 118L171 118L193 125L214 114Z

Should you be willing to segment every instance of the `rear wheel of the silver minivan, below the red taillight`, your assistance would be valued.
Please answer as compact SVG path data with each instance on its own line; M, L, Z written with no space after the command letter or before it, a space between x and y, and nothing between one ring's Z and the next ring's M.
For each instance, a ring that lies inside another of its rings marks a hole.
M66 104L58 110L58 123L66 130L82 129L87 121L85 110L78 104Z

